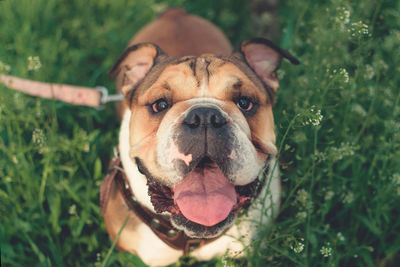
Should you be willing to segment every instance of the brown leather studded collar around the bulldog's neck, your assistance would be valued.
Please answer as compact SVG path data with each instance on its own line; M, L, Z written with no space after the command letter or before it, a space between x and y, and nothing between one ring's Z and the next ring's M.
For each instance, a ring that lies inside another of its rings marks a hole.
M172 226L169 216L156 214L142 206L136 201L136 198L132 193L119 157L115 157L112 160L108 174L100 188L100 210L102 214L104 214L107 207L108 192L110 191L113 182L117 184L128 208L132 210L148 227L150 227L153 233L156 234L164 243L174 249L182 250L184 255L187 255L190 251L204 246L221 236L211 239L190 238L183 231L179 231Z

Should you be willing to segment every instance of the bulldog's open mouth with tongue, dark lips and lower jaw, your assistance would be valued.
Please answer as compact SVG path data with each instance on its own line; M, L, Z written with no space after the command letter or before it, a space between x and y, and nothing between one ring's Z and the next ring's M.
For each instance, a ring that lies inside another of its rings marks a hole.
M172 223L192 237L218 235L233 223L239 210L250 205L261 188L259 179L235 186L209 157L203 157L181 183L172 187L146 176L155 211L170 212Z

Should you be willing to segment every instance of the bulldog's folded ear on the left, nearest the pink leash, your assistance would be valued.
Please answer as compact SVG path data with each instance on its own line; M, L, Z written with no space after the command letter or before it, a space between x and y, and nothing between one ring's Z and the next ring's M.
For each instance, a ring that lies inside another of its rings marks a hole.
M122 93L127 96L146 76L158 56L164 54L152 43L140 43L128 47L122 56L108 72L110 76L117 76Z

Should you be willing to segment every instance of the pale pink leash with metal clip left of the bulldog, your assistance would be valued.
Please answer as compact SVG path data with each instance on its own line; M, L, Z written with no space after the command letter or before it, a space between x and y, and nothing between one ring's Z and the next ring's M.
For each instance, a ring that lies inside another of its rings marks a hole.
M10 89L28 95L57 99L66 103L88 107L101 107L109 102L122 101L124 99L122 94L109 95L107 88L103 86L91 88L69 84L45 83L5 74L0 74L0 83Z

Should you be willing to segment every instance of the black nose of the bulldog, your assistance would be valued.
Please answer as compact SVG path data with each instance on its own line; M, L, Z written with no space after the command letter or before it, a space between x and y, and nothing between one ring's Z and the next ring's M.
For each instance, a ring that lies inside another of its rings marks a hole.
M191 129L199 127L221 128L227 123L225 117L216 108L199 107L192 109L183 124Z

